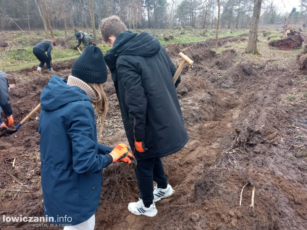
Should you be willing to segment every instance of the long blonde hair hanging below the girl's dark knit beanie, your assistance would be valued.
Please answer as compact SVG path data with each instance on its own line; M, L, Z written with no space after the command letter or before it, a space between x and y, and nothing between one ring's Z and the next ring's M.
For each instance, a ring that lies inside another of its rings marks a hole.
M92 105L95 109L95 112L97 112L101 116L101 127L99 135L101 135L101 132L103 130L103 124L104 120L106 119L107 111L109 108L107 96L104 92L105 85L104 83L89 83L87 82L89 86L95 91L96 98L92 100Z

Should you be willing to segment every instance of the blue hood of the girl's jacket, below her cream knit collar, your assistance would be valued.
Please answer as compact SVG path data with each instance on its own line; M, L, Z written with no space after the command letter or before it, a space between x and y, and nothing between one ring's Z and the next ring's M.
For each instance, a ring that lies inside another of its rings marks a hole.
M78 86L67 85L67 80L52 75L41 93L41 110L52 111L76 101L90 101L87 93Z

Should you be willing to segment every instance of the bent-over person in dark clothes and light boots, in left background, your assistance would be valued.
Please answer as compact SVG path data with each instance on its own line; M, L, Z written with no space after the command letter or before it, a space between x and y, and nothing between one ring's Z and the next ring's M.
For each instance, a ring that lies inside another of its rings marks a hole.
M33 47L33 54L41 62L37 67L38 71L41 71L45 63L46 63L48 70L53 71L51 67L51 64L53 64L52 58L51 58L51 51L52 51L52 47L55 45L56 43L54 41L43 41L43 42L37 43ZM47 55L45 52L47 52Z

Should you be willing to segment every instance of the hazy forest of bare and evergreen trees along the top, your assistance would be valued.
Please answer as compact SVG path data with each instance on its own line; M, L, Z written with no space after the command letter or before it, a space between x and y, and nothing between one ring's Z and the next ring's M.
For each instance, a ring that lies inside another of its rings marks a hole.
M307 0L300 0L300 4L300 11L293 8L285 12L283 4L263 1L259 24L306 23ZM253 0L221 0L220 7L219 28L248 28ZM129 29L176 26L213 29L217 24L217 8L216 0L0 0L0 28L1 31L35 30L48 23L53 29L64 29L66 24L67 28L85 30L92 27L92 21L98 28L102 18L118 15Z

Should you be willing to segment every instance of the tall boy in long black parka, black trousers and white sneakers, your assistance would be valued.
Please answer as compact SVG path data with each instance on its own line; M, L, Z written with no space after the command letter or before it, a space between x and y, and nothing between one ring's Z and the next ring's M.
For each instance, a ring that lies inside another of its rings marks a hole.
M148 32L128 31L119 17L100 22L103 41L109 45L109 67L131 149L138 160L135 173L140 200L128 205L136 215L153 217L154 202L173 194L161 157L179 151L187 142L173 75L177 68L165 48ZM153 187L153 181L157 186Z

